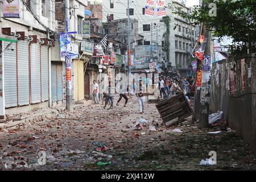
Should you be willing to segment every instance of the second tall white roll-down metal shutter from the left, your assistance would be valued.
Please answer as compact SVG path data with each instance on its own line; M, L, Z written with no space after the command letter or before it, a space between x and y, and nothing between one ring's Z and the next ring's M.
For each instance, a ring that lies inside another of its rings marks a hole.
M18 42L18 105L30 104L30 81L28 71L28 42Z

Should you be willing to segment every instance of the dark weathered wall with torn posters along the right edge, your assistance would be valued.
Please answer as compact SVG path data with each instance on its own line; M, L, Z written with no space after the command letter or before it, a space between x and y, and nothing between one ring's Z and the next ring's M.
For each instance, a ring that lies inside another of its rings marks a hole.
M242 90L241 59L222 60L212 65L210 112L224 111L224 119L251 147L256 150L256 66L255 57L245 58L245 90ZM230 93L230 69L235 67L235 91ZM248 77L251 68L251 78ZM228 81L227 81L228 80Z

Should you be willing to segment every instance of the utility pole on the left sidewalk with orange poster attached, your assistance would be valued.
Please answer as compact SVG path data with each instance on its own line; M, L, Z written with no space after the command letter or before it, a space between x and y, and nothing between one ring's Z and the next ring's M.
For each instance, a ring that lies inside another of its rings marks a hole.
M65 32L70 30L70 19L69 19L69 0L65 0ZM65 56L65 67L66 67L66 109L73 112L73 93L72 93L72 59L71 56Z

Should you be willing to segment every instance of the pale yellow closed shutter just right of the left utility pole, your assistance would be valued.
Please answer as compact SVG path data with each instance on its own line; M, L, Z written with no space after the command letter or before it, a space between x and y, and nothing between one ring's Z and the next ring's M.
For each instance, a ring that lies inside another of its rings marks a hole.
M84 61L74 61L75 101L84 100Z

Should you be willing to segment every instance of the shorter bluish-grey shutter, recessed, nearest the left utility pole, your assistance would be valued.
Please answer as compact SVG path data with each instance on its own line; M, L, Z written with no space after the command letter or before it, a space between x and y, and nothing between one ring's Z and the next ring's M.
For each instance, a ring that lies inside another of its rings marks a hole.
M63 63L60 61L52 61L51 64L51 93L52 102L63 100Z

